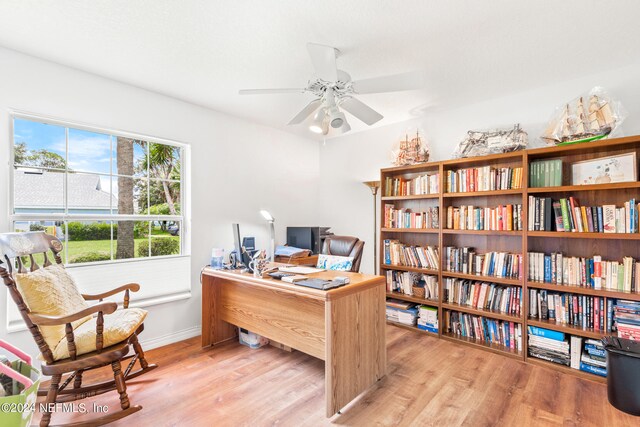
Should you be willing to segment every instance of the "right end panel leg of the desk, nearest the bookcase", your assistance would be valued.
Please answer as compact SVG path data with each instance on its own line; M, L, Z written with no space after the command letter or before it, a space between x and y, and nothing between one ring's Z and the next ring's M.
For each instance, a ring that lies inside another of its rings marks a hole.
M387 371L385 288L377 286L326 304L327 417Z

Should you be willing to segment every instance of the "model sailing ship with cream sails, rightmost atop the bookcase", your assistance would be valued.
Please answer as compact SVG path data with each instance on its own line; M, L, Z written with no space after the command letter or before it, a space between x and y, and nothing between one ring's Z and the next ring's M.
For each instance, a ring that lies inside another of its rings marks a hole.
M584 99L578 98L575 109L567 104L562 114L551 120L542 138L554 144L593 141L609 135L615 126L616 118L609 101L591 95L588 113Z

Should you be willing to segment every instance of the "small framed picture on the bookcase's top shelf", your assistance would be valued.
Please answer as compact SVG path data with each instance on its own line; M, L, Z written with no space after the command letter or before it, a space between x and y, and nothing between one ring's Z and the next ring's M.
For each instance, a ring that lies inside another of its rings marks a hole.
M638 180L636 152L584 160L571 165L573 185L611 184Z

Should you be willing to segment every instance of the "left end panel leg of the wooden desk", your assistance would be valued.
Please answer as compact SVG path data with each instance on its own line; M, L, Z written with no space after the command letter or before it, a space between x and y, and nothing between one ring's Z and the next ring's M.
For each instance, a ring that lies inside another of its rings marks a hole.
M220 319L224 279L202 276L202 347L235 338L237 329Z

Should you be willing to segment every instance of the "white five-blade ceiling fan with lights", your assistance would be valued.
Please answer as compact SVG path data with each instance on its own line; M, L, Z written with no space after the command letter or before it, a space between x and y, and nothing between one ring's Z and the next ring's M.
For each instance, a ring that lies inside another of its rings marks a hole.
M239 91L240 95L312 93L317 98L307 104L288 124L300 124L315 112L309 130L327 135L330 128L340 130L342 133L351 130L341 109L369 126L382 119L382 114L359 101L354 95L412 90L422 86L421 76L416 72L352 81L349 74L338 70L336 66L336 58L340 54L338 49L308 43L307 50L316 71L315 78L309 80L307 87L243 89Z

